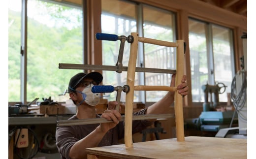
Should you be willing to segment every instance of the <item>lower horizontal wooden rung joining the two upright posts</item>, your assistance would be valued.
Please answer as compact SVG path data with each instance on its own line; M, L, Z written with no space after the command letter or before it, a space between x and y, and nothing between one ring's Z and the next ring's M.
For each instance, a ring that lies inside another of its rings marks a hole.
M169 87L169 86L134 86L134 91L177 91L177 87Z

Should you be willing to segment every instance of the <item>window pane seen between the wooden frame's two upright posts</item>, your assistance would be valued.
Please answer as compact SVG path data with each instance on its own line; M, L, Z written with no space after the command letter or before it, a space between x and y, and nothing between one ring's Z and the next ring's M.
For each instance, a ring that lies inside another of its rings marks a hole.
M153 16L154 15L154 16ZM144 37L176 42L175 16L173 13L154 7L143 6ZM148 68L176 69L176 49L159 45L144 44L144 63ZM171 74L145 73L145 85L170 86ZM164 91L146 92L147 102L156 102Z

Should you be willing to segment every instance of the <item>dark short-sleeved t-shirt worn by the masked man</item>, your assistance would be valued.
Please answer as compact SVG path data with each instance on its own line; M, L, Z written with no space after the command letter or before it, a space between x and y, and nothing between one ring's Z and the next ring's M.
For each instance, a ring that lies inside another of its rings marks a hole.
M142 109L133 115L144 115L147 108ZM96 118L100 118L99 115ZM75 115L69 118L68 120L78 119ZM132 121L132 133L140 132L141 130L149 127L153 122L147 120ZM61 159L70 159L69 150L70 148L80 139L87 136L99 124L90 124L90 125L79 125L79 126L66 126L66 127L57 127L56 128L56 146L61 154ZM110 146L118 144L118 140L124 138L125 126L124 122L119 122L119 124L110 129L102 138L98 147L101 146Z

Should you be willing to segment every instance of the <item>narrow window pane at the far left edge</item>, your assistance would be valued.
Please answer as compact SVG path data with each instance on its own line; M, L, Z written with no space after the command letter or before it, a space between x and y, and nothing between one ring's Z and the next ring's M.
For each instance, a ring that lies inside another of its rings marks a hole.
M21 97L21 0L9 0L8 16L8 83L9 100L20 101Z

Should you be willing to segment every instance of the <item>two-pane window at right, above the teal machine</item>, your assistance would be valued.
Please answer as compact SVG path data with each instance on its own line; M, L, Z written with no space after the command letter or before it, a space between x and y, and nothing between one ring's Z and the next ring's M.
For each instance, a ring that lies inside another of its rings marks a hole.
M231 39L232 32L228 28L189 20L193 102L204 102L204 92L201 87L206 84L218 84L222 87L219 101L227 101L226 94L231 91L234 76L234 64L232 63L234 53Z

